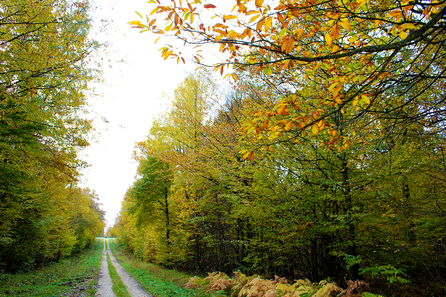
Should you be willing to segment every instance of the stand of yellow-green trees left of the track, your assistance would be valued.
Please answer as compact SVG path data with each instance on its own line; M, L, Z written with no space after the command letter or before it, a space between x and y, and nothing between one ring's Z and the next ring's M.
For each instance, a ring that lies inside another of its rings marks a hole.
M99 79L87 1L0 2L0 272L57 261L104 233L97 194L78 186Z

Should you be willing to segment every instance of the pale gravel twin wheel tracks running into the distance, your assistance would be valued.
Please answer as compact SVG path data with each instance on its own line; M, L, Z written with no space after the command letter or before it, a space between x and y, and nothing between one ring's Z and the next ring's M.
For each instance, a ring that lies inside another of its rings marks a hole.
M106 249L107 242L107 249ZM127 271L116 261L113 257L113 253L111 252L109 246L109 240L104 239L104 248L102 250L102 262L101 262L101 272L99 273L99 282L98 282L98 291L96 292L96 297L115 297L112 287L113 284L111 282L110 274L109 274L109 266L107 262L107 253L110 256L111 264L113 264L114 269L116 269L117 274L121 278L124 283L125 288L127 288L128 293L131 297L152 297L152 295L147 294L138 282L135 281L133 277L131 277Z

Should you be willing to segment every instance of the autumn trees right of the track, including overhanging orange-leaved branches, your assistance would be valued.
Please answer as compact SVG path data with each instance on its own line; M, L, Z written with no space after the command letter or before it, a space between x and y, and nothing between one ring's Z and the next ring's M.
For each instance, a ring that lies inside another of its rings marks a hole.
M135 145L120 243L188 271L445 296L444 1L149 3L129 24L193 47L162 58L231 86L197 70L173 90Z

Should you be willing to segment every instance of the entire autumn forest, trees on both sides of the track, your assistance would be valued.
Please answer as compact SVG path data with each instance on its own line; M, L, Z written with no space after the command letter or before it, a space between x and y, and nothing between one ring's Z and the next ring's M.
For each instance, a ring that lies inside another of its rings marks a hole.
M220 283L446 296L446 2L230 4L148 0L129 22L161 38L157 58L197 70L135 143L107 235ZM99 197L80 186L104 47L90 5L0 2L1 274L104 234Z

